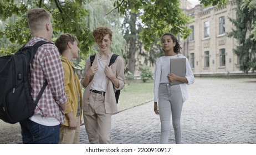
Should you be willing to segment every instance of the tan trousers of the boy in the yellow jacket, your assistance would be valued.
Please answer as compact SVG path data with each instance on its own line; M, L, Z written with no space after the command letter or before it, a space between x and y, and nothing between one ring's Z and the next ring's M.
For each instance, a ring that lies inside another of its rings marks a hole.
M80 117L76 117L76 130L71 130L68 126L60 126L59 144L77 144L80 133Z

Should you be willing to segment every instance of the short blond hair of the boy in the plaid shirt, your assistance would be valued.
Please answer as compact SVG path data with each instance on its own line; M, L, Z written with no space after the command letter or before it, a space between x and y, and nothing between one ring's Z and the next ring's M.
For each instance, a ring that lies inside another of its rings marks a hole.
M27 12L27 20L30 30L38 31L45 22L50 22L50 13L43 8L30 9Z

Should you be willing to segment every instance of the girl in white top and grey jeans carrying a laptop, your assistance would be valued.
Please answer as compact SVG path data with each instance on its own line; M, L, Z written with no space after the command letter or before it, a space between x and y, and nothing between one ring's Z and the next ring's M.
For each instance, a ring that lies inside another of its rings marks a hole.
M181 110L183 102L188 99L187 85L193 84L195 79L187 58L179 54L181 46L175 35L165 33L161 40L165 56L161 56L156 61L154 84L154 111L160 115L161 121L160 143L168 143L169 131L171 130L171 114L175 142L181 143ZM170 59L173 58L186 58L185 77L170 73ZM181 81L183 84L170 85L170 82L174 81Z

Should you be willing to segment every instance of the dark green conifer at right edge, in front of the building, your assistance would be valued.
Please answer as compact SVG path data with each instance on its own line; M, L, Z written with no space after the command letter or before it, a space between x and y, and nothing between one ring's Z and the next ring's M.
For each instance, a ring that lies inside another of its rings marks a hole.
M238 45L233 51L240 60L240 70L245 73L248 73L249 70L254 72L256 70L256 40L254 34L256 16L253 16L253 14L256 14L256 2L250 0L236 0L235 2L237 3L237 18L229 18L235 26L235 29L232 29L232 32L229 33L229 37L238 41Z

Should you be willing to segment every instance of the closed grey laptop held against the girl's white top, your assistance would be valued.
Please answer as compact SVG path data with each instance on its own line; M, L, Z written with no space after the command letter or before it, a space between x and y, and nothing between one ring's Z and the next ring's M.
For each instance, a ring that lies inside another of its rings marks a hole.
M178 76L186 76L186 58L170 59L170 73ZM183 84L181 81L171 82L171 85Z

